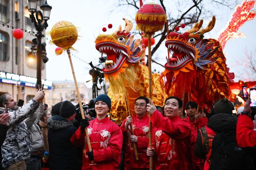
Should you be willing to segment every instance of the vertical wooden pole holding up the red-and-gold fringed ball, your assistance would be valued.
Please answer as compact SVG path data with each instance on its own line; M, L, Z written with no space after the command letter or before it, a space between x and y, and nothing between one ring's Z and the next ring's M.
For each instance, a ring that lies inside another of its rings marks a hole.
M151 71L151 35L148 34L148 82L149 82L149 98L152 99L152 71ZM151 114L148 114L149 116L149 148L152 149L152 123L150 121ZM149 157L149 170L153 170L153 157Z

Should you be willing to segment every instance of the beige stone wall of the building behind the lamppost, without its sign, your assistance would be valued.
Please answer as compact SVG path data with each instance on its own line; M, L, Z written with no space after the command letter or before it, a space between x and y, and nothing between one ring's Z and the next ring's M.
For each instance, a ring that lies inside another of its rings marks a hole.
M32 23L29 23L29 18L26 18L28 15L26 9L27 0L1 0L0 3L2 3L1 5L4 7L4 9L6 9L6 13L0 12L0 33L4 34L7 38L6 43L8 58L7 61L0 60L0 71L36 77L36 67L32 68L28 66L26 55L27 51L30 51L30 47L27 47L27 44L31 43L32 39L36 38L33 32L28 33L28 31L30 30L34 31L35 33L37 32L35 28L33 28ZM40 9L40 6L43 3L44 0L38 1L38 9ZM27 32L23 31L23 38L16 39L13 37L13 30L16 27L27 30ZM42 39L42 42L45 42L45 39ZM0 42L0 44L1 43L4 42ZM46 79L46 67L42 66L42 68L42 79ZM27 99L34 96L35 88L26 86L25 91L25 102L27 102ZM49 90L46 91L46 93L49 93ZM18 100L20 98L20 92L20 85L0 82L0 94L9 93L15 100Z

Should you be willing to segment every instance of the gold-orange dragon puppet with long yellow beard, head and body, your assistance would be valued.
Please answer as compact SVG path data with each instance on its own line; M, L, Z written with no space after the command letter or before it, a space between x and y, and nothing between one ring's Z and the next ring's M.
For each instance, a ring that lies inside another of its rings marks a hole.
M109 82L108 96L111 98L111 114L117 123L121 123L127 115L125 95L128 98L130 113L134 115L135 99L148 96L148 68L141 65L140 60L145 56L141 49L141 40L135 39L130 30L133 24L124 19L124 30L121 25L112 34L100 34L95 40L95 47L107 55L103 65L103 73ZM153 74L153 101L163 105L164 90L160 75Z

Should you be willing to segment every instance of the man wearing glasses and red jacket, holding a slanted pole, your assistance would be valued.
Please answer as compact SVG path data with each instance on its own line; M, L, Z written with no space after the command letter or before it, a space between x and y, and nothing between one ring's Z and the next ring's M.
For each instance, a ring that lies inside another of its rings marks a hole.
M148 98L140 96L135 100L135 116L128 116L121 124L121 130L125 138L125 170L148 170L149 159L147 156L148 148L148 124L147 112ZM133 131L130 124L132 123ZM132 135L133 132L133 135ZM135 159L134 145L137 147L139 160Z

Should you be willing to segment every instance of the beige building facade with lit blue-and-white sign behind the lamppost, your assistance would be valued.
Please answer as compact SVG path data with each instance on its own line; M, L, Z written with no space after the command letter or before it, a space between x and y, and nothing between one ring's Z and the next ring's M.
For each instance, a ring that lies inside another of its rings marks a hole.
M43 3L44 0L38 0L38 10ZM37 31L29 14L27 0L0 0L0 95L9 93L18 100L21 87L25 86L25 102L36 91L36 57L28 57L28 53ZM13 37L15 28L23 30L23 38ZM45 63L42 63L42 79L46 79ZM44 80L48 94L52 82Z

